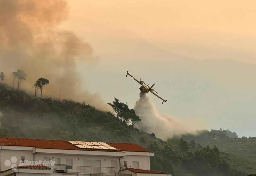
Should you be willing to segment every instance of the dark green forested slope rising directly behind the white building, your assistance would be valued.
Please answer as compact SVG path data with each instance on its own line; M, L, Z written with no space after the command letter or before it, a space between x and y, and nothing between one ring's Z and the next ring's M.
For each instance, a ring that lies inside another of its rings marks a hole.
M110 112L73 100L35 99L6 84L0 84L0 111L0 136L138 143L155 153L152 170L174 176L245 176L256 171L254 161L216 146L202 147L196 139L164 141L133 129Z

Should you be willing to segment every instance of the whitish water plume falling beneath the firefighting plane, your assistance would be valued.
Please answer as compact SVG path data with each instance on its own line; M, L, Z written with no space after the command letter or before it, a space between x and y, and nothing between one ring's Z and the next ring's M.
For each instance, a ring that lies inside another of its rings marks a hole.
M146 93L140 92L140 99L136 101L134 110L142 119L136 124L136 127L148 133L153 132L159 138L168 139L173 135L190 130L184 123L178 122L172 117L160 115Z

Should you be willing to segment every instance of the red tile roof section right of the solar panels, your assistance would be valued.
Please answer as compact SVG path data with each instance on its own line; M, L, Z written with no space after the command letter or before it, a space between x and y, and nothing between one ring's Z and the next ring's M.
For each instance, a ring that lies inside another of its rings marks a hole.
M106 142L108 145L117 148L122 151L131 151L131 152L151 152L147 148L141 147L138 144L132 143L115 143L115 142Z

